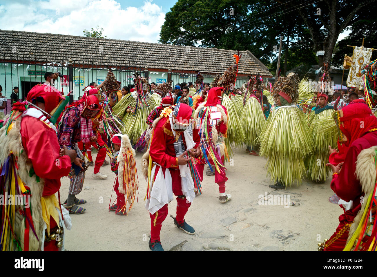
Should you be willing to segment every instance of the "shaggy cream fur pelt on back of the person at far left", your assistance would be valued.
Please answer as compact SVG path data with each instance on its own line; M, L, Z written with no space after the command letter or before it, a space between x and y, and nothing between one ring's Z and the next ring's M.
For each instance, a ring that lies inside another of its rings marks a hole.
M5 117L7 119L9 115ZM18 117L13 125L13 128L9 130L8 134L5 135L7 130L7 125L4 124L4 127L0 129L0 162L3 164L9 156L9 153L12 151L13 154L17 157L18 169L16 168L16 174L20 177L25 185L30 188L31 197L30 197L30 208L32 209L32 220L34 224L35 233L37 233L38 239L35 237L32 230L29 230L29 250L38 251L41 250L41 247L44 243L44 220L42 217L42 206L41 206L41 197L44 187L44 179L40 178L40 181L37 182L35 174L30 177L29 171L32 167L31 161L26 155L26 151L21 144L21 116ZM8 122L7 122L8 123ZM9 180L6 180L8 183ZM7 191L9 193L9 191ZM17 193L17 191L16 191ZM20 191L21 193L21 191ZM21 240L21 248L24 249L24 239L25 239L25 219L24 216L20 214L19 210L23 207L21 205L15 205L15 235ZM12 236L9 234L8 236ZM15 245L15 244L14 244ZM13 250L17 250L14 248Z

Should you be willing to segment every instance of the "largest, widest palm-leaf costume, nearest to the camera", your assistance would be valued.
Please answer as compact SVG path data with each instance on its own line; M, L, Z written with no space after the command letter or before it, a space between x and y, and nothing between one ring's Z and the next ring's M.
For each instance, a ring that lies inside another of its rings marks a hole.
M271 181L286 187L305 174L304 158L310 154L312 138L305 114L295 106L281 107L270 113L258 138L259 156L267 158Z

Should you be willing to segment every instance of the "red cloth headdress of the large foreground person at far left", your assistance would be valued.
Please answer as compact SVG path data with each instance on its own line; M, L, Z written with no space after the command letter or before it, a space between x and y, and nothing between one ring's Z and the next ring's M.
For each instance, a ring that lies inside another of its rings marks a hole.
M60 91L55 89L53 86L45 84L37 84L29 91L28 96L26 96L26 101L32 102L37 100L37 98L43 98L44 100L44 111L46 113L51 113L61 100L65 99L61 95ZM39 101L40 102L40 101Z

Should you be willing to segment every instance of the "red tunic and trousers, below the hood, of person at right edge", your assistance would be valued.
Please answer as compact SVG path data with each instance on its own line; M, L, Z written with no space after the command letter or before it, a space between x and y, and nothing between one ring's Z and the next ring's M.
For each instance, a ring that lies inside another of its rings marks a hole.
M360 182L356 179L355 176L357 156L362 150L375 145L377 145L377 132L366 133L362 137L356 139L349 147L344 164L342 166L342 170L340 170L339 174L333 175L333 180L331 181L331 189L341 199L347 202L352 200L353 207L339 216L339 226L336 233L334 233L330 239L335 237L345 224L351 223L354 220L356 214L360 211L361 197L364 196L364 193L362 193ZM346 245L347 238L348 231L344 232L343 235L339 237L339 239L326 247L325 250L343 250Z

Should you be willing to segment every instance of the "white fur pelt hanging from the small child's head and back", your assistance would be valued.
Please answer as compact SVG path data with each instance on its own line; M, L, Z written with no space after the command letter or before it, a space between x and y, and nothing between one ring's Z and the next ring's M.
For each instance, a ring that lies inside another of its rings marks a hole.
M132 155L129 155L129 152L132 154ZM130 189L132 189L130 187L130 184L126 184L124 186L124 184L126 183L126 180L124 180L124 170L129 170L129 168L124 168L125 164L124 164L124 159L127 158L128 159L128 162L129 163L133 163L136 165L135 163L135 150L132 148L132 145L131 145L131 142L130 142L130 139L127 135L123 135L122 136L122 140L121 140L121 145L120 145L120 151L119 151L119 154L118 154L118 181L119 181L119 187L118 187L118 191L122 194L125 194L125 195L129 195L128 199L126 199L126 201L128 201L129 203L131 203L131 194L132 193L129 193ZM135 168L135 171L136 171L136 168ZM138 180L136 178L136 176L131 176L130 178L133 178L135 180L135 184L136 184L136 188L135 188L135 191L133 191L133 193L136 192L136 190L138 190L139 188L139 183L138 183Z

